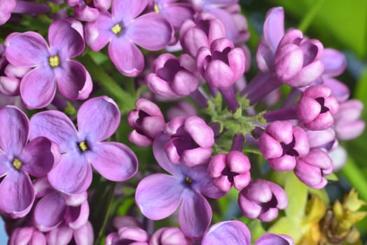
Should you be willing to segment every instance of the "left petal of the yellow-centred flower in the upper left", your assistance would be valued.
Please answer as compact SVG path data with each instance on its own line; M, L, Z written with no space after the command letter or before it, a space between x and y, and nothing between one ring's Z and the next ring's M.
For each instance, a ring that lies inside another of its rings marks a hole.
M43 36L34 31L13 36L7 45L6 59L15 66L33 67L48 62L48 45Z

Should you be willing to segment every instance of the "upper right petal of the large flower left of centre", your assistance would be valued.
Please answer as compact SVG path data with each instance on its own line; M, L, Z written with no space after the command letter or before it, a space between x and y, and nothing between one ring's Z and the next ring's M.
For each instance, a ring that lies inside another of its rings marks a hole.
M113 99L102 96L88 99L78 111L78 130L88 141L103 141L116 132L120 110Z

